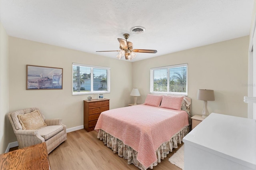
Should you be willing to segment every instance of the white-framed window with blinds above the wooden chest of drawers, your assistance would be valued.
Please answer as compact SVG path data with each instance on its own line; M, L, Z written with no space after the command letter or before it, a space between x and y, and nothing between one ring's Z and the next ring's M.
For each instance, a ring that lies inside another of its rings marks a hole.
M110 68L73 63L73 95L110 93Z

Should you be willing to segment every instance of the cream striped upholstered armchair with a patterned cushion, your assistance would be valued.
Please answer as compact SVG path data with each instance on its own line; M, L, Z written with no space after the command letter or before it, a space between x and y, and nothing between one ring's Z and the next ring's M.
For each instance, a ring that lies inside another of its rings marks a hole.
M62 119L45 119L38 108L28 108L8 114L18 147L46 142L48 154L67 139Z

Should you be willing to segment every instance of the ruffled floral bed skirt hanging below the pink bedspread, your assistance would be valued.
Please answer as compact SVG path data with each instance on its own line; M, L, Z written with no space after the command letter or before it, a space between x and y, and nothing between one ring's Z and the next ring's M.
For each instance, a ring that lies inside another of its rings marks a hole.
M104 144L107 145L108 148L111 148L114 153L118 153L118 156L127 159L129 165L134 164L141 170L146 170L147 168L153 169L153 166L156 166L157 163L161 162L161 159L166 158L166 155L169 154L169 152L172 152L172 148L178 148L178 143L181 144L182 139L188 134L188 131L189 126L186 126L182 128L180 132L176 133L169 141L162 143L156 150L157 162L152 163L149 167L144 167L138 162L138 152L132 147L124 144L122 140L119 140L102 129L99 129L97 137L100 140L103 140Z

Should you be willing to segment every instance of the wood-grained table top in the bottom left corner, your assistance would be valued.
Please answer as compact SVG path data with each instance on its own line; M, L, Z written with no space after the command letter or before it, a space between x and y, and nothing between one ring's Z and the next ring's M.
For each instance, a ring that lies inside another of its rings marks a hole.
M50 170L46 143L0 155L0 170Z

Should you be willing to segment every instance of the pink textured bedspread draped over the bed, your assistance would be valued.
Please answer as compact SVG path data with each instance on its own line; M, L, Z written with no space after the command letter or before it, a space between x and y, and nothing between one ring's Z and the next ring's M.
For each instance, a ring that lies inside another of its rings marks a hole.
M157 161L157 148L188 125L186 111L136 105L102 112L95 129L132 147L138 152L137 160L148 168Z

